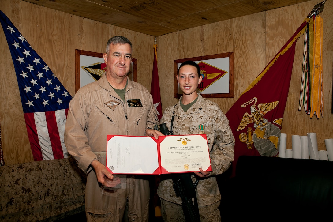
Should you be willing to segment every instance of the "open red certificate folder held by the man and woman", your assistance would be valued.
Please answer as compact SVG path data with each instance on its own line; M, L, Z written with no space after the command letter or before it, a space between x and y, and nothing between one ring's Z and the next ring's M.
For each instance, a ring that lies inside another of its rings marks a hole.
M207 137L108 135L106 167L112 174L211 171Z

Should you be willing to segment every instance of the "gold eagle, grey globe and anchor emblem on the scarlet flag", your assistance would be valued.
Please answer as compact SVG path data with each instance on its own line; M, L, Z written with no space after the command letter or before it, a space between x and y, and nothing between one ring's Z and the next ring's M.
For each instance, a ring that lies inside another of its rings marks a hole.
M239 134L239 140L247 144L248 149L252 149L252 144L258 150L262 156L275 156L278 154L278 142L279 135L281 133L280 128L276 125L268 122L267 119L263 118L264 115L273 110L279 101L258 104L256 108L257 98L254 97L250 101L243 103L242 108L252 104L250 107L251 114L245 113L242 120L240 121L236 131L243 130L248 124L254 123L253 127L247 128L247 133L242 132ZM282 126L283 118L275 119L273 123Z

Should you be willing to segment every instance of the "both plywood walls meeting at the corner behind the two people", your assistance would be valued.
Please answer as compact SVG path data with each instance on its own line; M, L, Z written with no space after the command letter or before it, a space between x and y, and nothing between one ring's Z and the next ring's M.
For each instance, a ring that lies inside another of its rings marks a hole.
M10 18L71 95L75 92L75 49L103 53L107 40L114 35L123 35L132 41L133 57L138 58L138 82L150 89L153 36L19 0L0 1L0 10ZM158 37L158 69L163 109L177 102L173 98L173 60L232 51L235 56L235 96L211 99L223 112L227 112L317 3L309 1ZM324 19L324 117L310 119L303 111L298 111L303 50L303 39L300 39L296 45L282 127L282 132L287 133L288 148L291 148L291 135L316 132L319 149L325 149L324 139L333 138L332 1L326 2L321 16ZM0 119L5 162L8 165L33 161L15 71L3 32L0 32L0 51Z

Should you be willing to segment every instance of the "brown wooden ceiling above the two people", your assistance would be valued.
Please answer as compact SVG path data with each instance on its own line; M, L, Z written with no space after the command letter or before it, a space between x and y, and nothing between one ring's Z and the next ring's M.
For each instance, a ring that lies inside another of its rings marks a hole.
M23 0L152 36L309 0Z

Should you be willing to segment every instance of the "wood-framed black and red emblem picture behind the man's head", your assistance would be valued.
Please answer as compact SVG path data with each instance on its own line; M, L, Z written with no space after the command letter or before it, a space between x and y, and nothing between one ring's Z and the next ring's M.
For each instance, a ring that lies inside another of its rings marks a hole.
M82 86L98 80L105 67L103 53L75 49L75 92ZM96 70L88 71L88 70ZM137 59L132 58L129 78L137 82Z

